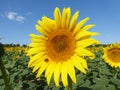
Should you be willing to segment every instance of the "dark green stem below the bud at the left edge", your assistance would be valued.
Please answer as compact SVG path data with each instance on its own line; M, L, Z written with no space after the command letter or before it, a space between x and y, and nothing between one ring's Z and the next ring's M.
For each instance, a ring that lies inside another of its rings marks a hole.
M10 90L9 80L8 80L7 73L6 73L6 70L5 70L5 67L4 67L4 64L1 58L0 58L0 70L2 72L2 77L5 83L5 90Z

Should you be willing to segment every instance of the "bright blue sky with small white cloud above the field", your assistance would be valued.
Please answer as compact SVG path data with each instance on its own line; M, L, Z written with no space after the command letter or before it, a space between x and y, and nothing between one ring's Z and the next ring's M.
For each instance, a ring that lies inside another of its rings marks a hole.
M0 0L0 42L31 43L37 20L53 19L55 7L71 7L72 14L78 10L78 21L90 17L87 24L96 24L91 31L100 33L93 38L102 44L120 43L120 0Z

